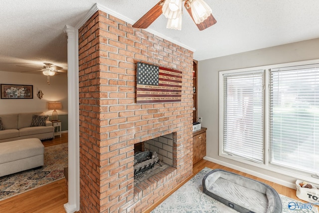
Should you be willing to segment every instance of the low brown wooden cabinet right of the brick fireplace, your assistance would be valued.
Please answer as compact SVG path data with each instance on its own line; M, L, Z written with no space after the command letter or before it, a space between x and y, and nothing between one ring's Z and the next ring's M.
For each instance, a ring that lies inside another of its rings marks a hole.
M193 132L193 164L206 156L206 129Z

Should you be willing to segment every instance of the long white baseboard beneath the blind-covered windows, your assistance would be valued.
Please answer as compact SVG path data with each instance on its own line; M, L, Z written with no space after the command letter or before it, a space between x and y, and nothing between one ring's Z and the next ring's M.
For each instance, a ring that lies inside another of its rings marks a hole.
M236 166L236 165L233 165L233 164L229 164L229 163L226 163L226 162L214 159L214 158L209 158L207 156L204 157L204 160L213 162L215 164L220 164L222 166L229 167L231 169L235 169L235 170L238 170L240 172L244 172L244 173L247 173L249 175L253 175L253 176L256 176L258 178L262 178L262 179L265 179L267 181L271 181L271 182L274 182L276 184L283 185L285 187L296 189L296 185L294 183L290 183L290 182L282 180L282 179L274 178L272 176L268 176L268 175L265 175L263 173L259 173L259 172L253 171L253 170L249 170L249 169L246 169L244 167L240 167L240 166Z

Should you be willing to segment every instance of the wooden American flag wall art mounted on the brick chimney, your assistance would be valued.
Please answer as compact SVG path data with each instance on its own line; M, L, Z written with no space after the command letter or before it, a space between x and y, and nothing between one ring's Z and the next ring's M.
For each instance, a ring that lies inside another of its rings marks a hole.
M180 102L182 72L138 62L137 103Z

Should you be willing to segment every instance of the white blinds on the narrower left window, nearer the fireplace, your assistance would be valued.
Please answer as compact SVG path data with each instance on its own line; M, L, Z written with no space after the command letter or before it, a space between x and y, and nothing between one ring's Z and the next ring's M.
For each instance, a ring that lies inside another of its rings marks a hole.
M223 74L223 153L263 162L263 82L263 70Z

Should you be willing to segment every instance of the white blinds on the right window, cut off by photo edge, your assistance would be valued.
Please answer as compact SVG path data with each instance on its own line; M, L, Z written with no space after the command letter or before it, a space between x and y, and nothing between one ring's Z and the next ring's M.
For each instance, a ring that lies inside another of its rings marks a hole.
M271 69L270 161L319 172L319 64Z

